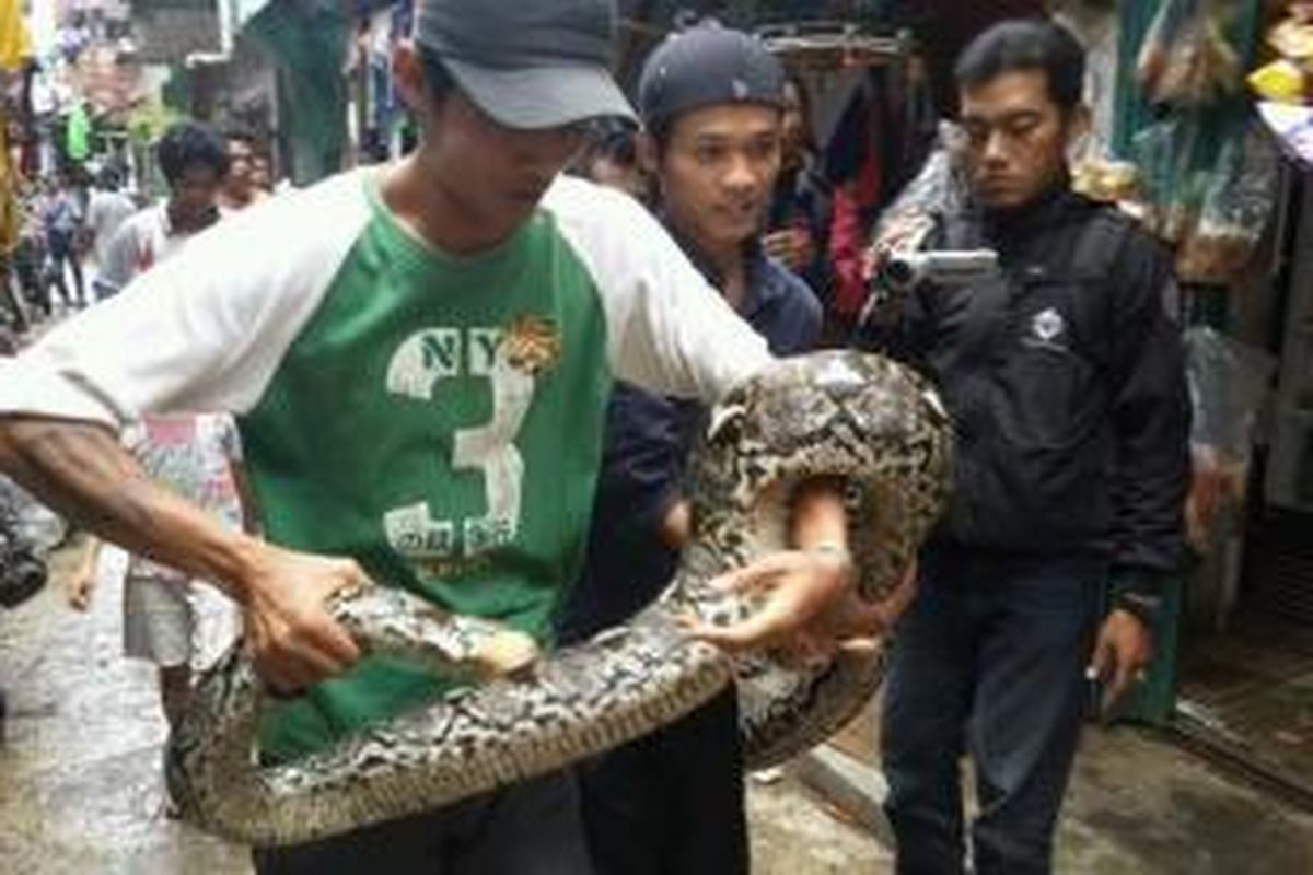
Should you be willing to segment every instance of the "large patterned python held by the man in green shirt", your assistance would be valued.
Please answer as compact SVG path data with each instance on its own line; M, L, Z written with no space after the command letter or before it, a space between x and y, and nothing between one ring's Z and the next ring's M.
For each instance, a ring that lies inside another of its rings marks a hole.
M818 475L847 483L859 590L878 598L939 516L949 464L943 408L906 369L844 352L773 365L714 411L695 466L697 540L667 593L626 626L540 659L519 632L397 589L341 594L332 611L368 652L481 682L326 752L261 767L253 750L264 689L236 647L201 680L169 739L169 790L184 817L214 833L305 842L553 771L680 718L735 678L748 763L780 762L871 699L882 653L785 669L692 640L678 617L727 623L752 611L706 581L784 548L789 487Z

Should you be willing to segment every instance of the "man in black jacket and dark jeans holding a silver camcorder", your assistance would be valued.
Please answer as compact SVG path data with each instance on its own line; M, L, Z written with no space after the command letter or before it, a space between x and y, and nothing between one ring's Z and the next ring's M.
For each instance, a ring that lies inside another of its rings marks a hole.
M1075 39L1043 21L968 47L972 206L936 216L926 245L995 249L1001 270L918 287L864 327L936 380L958 441L886 687L899 872L964 871L962 753L978 784L974 871L1050 870L1088 682L1111 702L1141 677L1182 550L1190 408L1171 261L1070 192L1083 71Z

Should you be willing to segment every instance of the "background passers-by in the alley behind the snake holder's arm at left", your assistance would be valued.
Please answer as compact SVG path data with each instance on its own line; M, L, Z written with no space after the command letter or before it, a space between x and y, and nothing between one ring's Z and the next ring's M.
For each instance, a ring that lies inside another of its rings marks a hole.
M101 167L89 192L72 184L77 172L63 172L33 202L30 252L20 253L16 265L14 282L28 286L21 294L35 310L32 329L47 331L113 298L139 274L175 257L194 235L269 197L252 156L252 139L243 132L225 136L204 125L177 123L154 144L167 194L146 206L123 190L116 167ZM26 262L42 254L37 275L26 277L32 270ZM51 294L56 290L58 300ZM232 526L253 526L249 497L243 500L239 489L240 445L231 417L146 415L123 433L123 446L156 481ZM160 704L172 725L186 704L193 668L213 661L236 639L239 615L213 588L197 586L142 556L119 561L121 554L104 546L95 537L87 539L83 560L67 581L68 602L88 610L97 584L123 575L123 652L158 666Z

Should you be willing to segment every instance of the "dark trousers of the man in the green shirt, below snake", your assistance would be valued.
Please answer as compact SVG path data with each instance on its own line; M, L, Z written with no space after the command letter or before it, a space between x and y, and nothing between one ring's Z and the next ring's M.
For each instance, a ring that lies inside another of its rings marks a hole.
M345 836L253 853L256 875L591 875L574 777L557 773Z

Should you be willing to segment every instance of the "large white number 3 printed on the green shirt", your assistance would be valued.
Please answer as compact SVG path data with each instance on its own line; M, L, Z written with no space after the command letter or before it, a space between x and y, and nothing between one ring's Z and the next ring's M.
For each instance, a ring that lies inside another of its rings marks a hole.
M524 458L515 439L533 403L533 376L507 362L502 331L431 328L414 335L393 356L387 391L441 403L448 379L470 375L488 380L492 418L456 433L450 466L479 471L487 512L481 517L435 519L427 501L383 516L387 540L411 558L475 556L515 539L520 525Z

